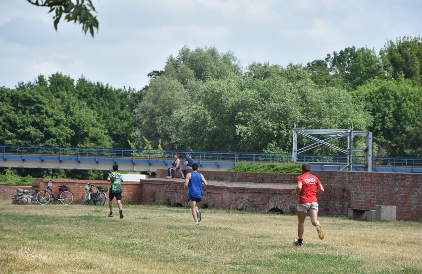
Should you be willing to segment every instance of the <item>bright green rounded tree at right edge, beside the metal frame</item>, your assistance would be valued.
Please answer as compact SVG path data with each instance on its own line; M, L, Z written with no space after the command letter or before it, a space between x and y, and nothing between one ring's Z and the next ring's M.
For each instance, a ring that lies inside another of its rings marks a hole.
M390 157L417 157L417 136L422 117L422 87L411 79L371 79L352 93L373 117L369 131L374 143Z

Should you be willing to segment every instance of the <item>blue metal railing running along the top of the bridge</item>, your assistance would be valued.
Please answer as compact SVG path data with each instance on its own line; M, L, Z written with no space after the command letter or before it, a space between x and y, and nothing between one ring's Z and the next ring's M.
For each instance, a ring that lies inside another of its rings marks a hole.
M155 162L171 163L174 153L179 154L180 159L185 159L188 152L172 150L132 150L114 148L81 148L81 147L47 147L47 146L18 146L0 145L0 159L36 159L36 160L74 160L74 161L107 161L117 162L117 159L126 158L126 161L133 162ZM249 163L286 163L292 161L291 154L272 153L249 153L249 152L201 152L189 151L195 162L199 164L214 165L235 165L238 162ZM129 159L129 160L128 160ZM297 155L298 162L321 163L315 169L323 169L324 163L348 164L347 156L334 155ZM354 170L364 170L366 164L364 156L354 156L352 164ZM314 166L315 164L313 164ZM0 164L1 166L1 164ZM329 167L325 167L329 169ZM418 158L372 158L373 171L400 171L400 172L422 172L422 159Z

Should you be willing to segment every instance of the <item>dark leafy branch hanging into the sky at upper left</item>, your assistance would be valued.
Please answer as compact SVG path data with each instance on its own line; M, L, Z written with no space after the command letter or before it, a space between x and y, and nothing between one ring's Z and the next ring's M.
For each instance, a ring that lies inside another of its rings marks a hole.
M29 3L36 6L49 7L49 13L54 11L53 24L57 31L57 25L61 16L65 14L64 20L67 22L74 22L82 25L82 31L86 34L88 31L94 38L94 29L98 31L97 16L93 15L96 12L91 0L27 0Z

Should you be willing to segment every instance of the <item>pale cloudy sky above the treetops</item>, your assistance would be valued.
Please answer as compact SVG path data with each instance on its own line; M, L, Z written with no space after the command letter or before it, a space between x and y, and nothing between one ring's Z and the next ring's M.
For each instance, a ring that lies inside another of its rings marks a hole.
M182 47L231 52L286 66L347 47L376 53L422 32L421 0L92 0L99 30L53 27L53 13L27 0L0 1L0 87L59 72L113 88L141 90Z

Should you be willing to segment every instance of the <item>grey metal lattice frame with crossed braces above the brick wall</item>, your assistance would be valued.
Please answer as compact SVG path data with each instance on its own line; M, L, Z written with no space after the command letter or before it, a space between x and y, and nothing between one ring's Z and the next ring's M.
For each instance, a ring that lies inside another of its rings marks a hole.
M311 140L314 140L315 143L308 145L306 147L297 148L297 138L298 135L303 135ZM323 136L323 139L319 139L315 136ZM365 149L354 149L353 148L353 137L354 136L365 136L366 137L366 148ZM347 138L347 148L339 148L332 144L334 140L340 138ZM293 130L293 153L292 153L292 160L293 163L297 162L298 154L304 153L316 147L325 145L329 148L332 148L336 151L339 151L345 155L347 155L347 163L333 163L333 162L308 162L309 164L325 164L341 166L344 165L340 170L347 168L348 170L352 170L352 166L355 167L364 167L366 171L372 171L372 132L369 131L353 131L353 125L350 126L349 129L304 129L304 128L296 128L296 123L294 125ZM365 152L365 160L366 163L364 165L353 164L353 152Z

